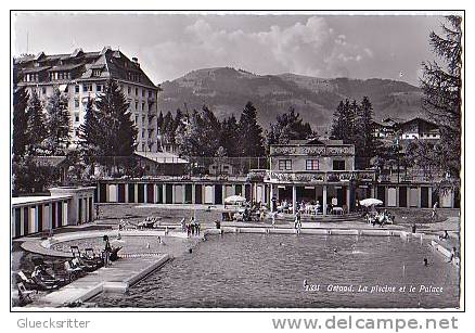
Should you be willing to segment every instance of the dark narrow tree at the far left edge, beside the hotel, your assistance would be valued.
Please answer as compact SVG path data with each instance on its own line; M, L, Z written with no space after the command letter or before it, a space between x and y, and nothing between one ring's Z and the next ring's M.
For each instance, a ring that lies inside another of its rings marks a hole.
M13 93L13 159L17 161L26 152L28 144L28 92L18 88Z

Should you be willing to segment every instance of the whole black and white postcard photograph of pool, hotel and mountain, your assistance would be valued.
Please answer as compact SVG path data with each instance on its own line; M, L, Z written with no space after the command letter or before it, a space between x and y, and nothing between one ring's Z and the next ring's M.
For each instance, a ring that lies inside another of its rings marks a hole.
M464 11L10 14L11 311L464 309Z

